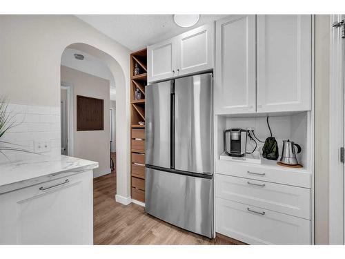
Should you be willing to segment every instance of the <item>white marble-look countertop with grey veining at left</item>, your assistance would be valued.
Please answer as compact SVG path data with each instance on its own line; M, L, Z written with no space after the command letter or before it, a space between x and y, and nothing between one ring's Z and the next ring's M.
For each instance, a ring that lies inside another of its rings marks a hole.
M78 173L98 167L98 162L66 155L41 155L32 160L0 164L0 193L57 178L63 173Z

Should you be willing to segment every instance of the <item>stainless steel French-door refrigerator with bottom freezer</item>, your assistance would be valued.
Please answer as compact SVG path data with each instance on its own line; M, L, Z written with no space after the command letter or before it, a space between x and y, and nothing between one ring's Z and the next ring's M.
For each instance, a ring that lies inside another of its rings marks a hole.
M145 209L213 237L210 73L146 86Z

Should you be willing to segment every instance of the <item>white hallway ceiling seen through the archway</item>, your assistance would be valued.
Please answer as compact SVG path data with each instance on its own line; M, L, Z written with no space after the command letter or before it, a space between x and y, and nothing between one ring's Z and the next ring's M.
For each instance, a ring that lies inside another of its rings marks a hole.
M83 60L75 59L74 54L78 53L84 56ZM110 81L110 99L115 101L116 90L115 90L115 80L112 77L108 66L97 57L94 57L86 52L75 50L73 48L66 48L61 56L61 65L68 66L69 68L74 68L76 70L88 73L90 75L95 75L96 77L101 77Z

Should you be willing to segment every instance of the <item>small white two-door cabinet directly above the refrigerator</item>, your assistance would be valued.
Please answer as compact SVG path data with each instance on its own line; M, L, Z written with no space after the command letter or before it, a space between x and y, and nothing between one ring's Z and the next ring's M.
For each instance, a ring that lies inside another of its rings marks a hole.
M213 69L215 23L148 46L148 82Z

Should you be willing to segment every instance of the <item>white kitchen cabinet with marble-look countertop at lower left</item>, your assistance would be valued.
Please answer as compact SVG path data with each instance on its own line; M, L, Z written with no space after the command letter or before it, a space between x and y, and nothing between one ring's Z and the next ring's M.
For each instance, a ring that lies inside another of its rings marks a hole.
M0 244L92 244L97 167L64 155L0 164Z

